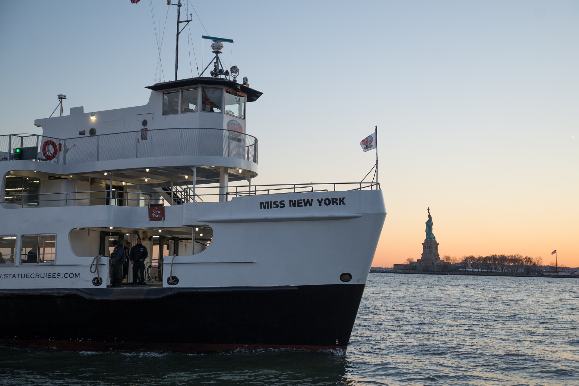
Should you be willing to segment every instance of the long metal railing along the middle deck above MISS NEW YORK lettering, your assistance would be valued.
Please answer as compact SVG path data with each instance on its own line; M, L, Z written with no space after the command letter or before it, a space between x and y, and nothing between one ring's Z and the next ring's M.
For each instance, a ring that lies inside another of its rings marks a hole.
M191 202L211 202L219 201L222 194L219 192L219 186L185 186L164 188L160 191L151 192L119 192L113 190L117 196L111 193L111 190L98 191L78 191L78 192L54 192L54 193L19 193L10 195L1 195L3 203L27 206L85 206L91 205L91 201L97 203L92 205L120 205L123 203L127 206L130 202L143 202L145 199L142 195L160 195L159 198L147 198L151 203L168 202L169 205L183 205ZM331 191L353 191L353 190L380 190L379 183L310 183L310 184L272 184L272 185L245 185L245 186L228 186L225 196L229 201L232 197L267 195L267 194L288 194L288 193L305 193L305 192L331 192ZM340 189L343 188L343 189ZM101 194L100 196L98 196ZM120 196L118 196L120 194ZM91 196L93 195L93 196ZM96 197L94 195L97 195ZM107 196L108 195L108 196ZM32 196L32 199L30 199ZM112 196L112 198L111 198ZM8 198L8 200L6 200ZM64 205L52 205L53 202L64 202ZM80 202L80 205L78 205ZM43 205L41 205L41 203ZM69 205L72 203L72 205ZM128 205L131 206L131 205ZM144 206L138 203L133 206Z

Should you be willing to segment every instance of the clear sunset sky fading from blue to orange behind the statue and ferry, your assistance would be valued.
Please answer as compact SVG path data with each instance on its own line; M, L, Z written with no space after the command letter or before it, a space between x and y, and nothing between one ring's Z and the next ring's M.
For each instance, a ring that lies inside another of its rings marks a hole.
M420 257L427 207L441 256L557 249L579 266L579 2L184 0L189 13L179 78L210 61L201 35L219 36L264 93L247 111L252 184L360 181L378 125L373 266ZM0 135L39 133L57 94L66 114L147 103L159 19L174 77L175 18L165 0L0 2Z

